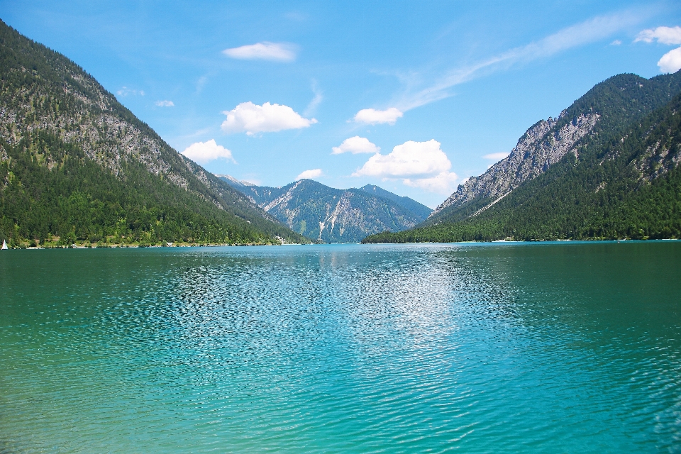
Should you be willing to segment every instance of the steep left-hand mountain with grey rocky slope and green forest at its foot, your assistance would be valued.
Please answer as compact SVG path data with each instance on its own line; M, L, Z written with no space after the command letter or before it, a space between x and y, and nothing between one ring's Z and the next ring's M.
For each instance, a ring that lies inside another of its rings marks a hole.
M11 245L307 241L1 21L0 181Z

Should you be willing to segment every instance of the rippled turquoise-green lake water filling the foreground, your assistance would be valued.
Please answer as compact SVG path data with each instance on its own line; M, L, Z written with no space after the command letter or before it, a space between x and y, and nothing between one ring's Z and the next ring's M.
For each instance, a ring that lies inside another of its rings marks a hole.
M0 453L681 452L681 243L0 252Z

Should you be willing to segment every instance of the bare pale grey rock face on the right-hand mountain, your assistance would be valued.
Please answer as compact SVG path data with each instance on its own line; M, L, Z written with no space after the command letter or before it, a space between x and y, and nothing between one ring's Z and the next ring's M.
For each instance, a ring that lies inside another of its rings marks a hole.
M471 177L460 184L456 192L438 206L429 218L443 209L463 206L478 197L497 201L523 182L546 172L548 167L563 159L570 151L577 155L572 148L592 130L599 116L582 114L558 128L557 124L563 116L565 111L558 118L539 121L529 128L507 157L489 167L480 177Z

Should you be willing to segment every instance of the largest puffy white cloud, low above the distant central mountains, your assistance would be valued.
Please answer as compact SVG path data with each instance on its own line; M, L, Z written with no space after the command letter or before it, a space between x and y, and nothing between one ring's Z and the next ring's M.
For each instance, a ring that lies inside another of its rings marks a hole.
M436 140L397 145L388 155L375 154L353 177L428 178L449 170L452 163Z

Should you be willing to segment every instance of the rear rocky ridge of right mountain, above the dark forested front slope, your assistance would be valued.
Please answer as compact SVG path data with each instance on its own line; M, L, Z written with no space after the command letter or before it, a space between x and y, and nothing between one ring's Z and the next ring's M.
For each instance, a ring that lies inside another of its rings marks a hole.
M470 177L460 184L454 194L433 210L427 223L477 216L522 184L543 175L566 155L580 160L579 150L585 143L597 139L604 131L613 133L670 101L679 79L672 74L649 80L620 74L598 84L558 118L531 126L507 157L479 177Z

